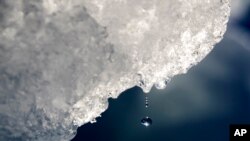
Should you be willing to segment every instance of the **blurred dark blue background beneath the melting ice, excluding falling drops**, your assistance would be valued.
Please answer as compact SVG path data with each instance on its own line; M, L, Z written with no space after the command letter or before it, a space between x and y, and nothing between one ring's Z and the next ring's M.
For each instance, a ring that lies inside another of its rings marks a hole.
M140 88L127 90L72 141L228 141L230 124L250 124L250 6L233 4L224 39L166 89L153 88L149 108Z

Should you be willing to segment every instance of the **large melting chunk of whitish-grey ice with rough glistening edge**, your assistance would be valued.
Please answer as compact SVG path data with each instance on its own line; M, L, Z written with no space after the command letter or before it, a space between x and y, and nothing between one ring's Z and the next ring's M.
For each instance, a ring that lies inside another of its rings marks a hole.
M228 0L0 0L0 140L69 140L135 85L199 62Z

